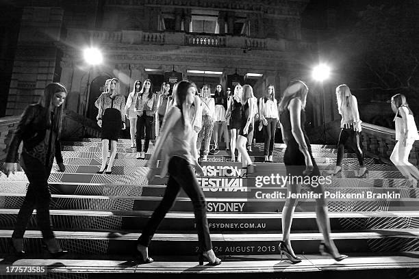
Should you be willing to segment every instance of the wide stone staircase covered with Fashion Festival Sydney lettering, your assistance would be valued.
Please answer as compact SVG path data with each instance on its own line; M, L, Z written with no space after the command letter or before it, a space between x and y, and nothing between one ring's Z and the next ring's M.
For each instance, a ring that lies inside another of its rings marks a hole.
M149 248L155 263L137 265L130 254L147 218L162 199L167 178L156 178L149 185L147 161L136 159L135 149L129 145L127 139L118 141L112 174L106 175L96 174L101 164L99 139L63 142L66 172L58 172L58 166L53 165L50 208L56 237L71 254L45 258L34 215L25 235L29 255L10 263L47 265L49 278L103 278L103 274L112 278L139 274L147 278L205 278L214 274L223 278L301 278L303 274L312 278L371 278L368 274L372 271L381 278L419 276L418 189L406 187L394 166L372 158L366 159L368 178L356 178L358 166L353 154L345 155L343 173L326 186L326 191L335 195L328 202L332 237L340 252L350 258L337 263L318 254L322 236L316 225L316 203L305 198L296 207L291 233L294 251L303 261L296 265L281 261L278 244L287 191L275 179L266 179L261 187L260 176L285 176L283 144L275 145L275 163L263 163L263 144L255 144L251 157L257 171L251 175L246 175L241 163L229 161L225 151L201 162L205 176L199 177L199 183L207 198L214 251L223 265L197 265L192 203L183 191ZM149 152L153 148L151 144ZM312 149L322 175L327 176L334 168L335 146L312 145ZM0 177L1 265L10 261L8 239L26 187L27 178L19 165L10 178ZM303 187L302 193L308 191ZM354 197L342 197L348 194Z

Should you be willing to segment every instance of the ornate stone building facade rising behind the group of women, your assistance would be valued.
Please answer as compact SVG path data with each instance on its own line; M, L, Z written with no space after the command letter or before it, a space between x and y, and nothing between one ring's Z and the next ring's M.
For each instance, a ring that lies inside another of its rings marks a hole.
M253 85L255 96L273 84L279 98L291 79L307 77L316 57L316 42L302 35L307 3L32 1L23 8L6 115L20 114L47 83L57 81L68 89L66 110L94 119L93 103L105 79L117 77L127 96L136 79L150 78L154 91L159 90L170 71L212 89L216 83L225 87L229 76L237 74ZM86 64L87 47L101 50L102 64ZM312 108L325 107L327 120L333 120L333 105L322 100L312 98ZM322 124L320 114L313 109L314 126Z

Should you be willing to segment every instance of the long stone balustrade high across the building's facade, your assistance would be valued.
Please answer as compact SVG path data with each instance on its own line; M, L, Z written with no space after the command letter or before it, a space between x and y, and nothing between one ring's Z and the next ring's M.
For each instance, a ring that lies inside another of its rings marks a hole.
M226 47L262 51L305 51L313 50L316 44L301 40L259 39L246 36L220 34L194 34L185 32L144 32L138 30L105 31L68 28L66 42L162 44L196 47Z

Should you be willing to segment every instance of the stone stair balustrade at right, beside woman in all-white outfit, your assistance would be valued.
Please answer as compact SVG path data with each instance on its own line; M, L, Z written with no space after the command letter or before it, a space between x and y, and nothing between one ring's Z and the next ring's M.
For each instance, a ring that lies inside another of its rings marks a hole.
M362 146L367 155L377 157L386 163L390 162L394 145L396 144L396 133L394 129L362 123ZM419 165L419 141L411 148L409 162Z

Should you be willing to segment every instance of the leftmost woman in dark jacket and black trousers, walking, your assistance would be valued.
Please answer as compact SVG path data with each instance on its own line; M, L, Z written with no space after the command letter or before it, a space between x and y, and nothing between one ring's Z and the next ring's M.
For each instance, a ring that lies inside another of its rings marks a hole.
M60 131L62 123L62 110L67 91L60 83L49 83L44 94L36 105L29 105L21 121L14 131L10 142L8 155L3 163L3 172L9 176L14 174L14 163L18 159L18 148L23 141L21 166L25 171L29 185L25 200L16 218L16 225L10 245L16 256L23 256L23 235L27 222L36 208L38 226L42 232L45 248L51 256L62 256L63 251L54 237L49 215L49 202L51 192L48 187L48 178L51 174L54 157L58 167L64 172L60 148Z

